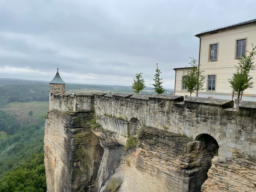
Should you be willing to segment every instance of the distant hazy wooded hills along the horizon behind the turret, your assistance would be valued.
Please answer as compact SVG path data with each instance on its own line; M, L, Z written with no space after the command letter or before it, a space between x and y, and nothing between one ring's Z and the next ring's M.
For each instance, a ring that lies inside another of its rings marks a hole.
M10 102L48 101L49 82L23 79L0 78L0 106ZM66 83L66 91L76 93L95 93L98 91L134 93L131 86L87 85ZM173 94L166 89L164 94ZM140 94L155 94L152 87L146 87Z

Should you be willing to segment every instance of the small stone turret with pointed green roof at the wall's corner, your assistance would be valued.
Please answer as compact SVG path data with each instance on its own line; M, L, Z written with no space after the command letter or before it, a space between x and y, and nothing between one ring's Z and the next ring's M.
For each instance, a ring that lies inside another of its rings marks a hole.
M61 79L59 75L59 68L57 68L57 73L53 80L50 82L49 91L49 110L53 110L53 95L62 94L65 92L65 82Z

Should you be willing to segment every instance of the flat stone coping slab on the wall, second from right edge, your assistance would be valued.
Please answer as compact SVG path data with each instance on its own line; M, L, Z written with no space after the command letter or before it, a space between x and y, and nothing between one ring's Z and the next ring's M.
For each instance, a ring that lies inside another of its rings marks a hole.
M202 98L202 97L187 97L185 103L202 104L217 107L233 107L234 101L228 99Z

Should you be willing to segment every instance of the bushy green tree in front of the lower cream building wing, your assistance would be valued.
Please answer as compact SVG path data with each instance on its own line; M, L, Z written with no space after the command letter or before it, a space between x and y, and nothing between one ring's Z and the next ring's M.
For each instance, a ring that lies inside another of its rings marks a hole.
M191 57L190 57L191 58ZM183 70L183 78L182 83L185 85L186 89L191 93L193 91L204 90L203 84L205 81L205 76L203 75L204 71L200 71L197 68L197 60L191 58L191 62L189 63L191 69Z

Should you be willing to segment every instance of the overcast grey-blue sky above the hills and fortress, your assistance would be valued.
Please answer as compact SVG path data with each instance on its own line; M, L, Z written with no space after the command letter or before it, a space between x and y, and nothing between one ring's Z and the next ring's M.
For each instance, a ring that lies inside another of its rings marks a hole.
M255 0L1 0L0 78L152 84L198 58L201 31L256 19Z

